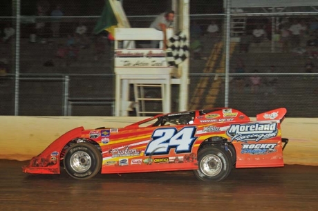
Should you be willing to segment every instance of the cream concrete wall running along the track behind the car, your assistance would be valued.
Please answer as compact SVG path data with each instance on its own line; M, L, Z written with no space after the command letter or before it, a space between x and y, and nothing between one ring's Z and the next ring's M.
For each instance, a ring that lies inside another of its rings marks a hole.
M24 161L39 154L52 141L73 128L121 128L144 117L8 117L0 116L0 159ZM282 136L286 164L318 166L318 119L286 118Z

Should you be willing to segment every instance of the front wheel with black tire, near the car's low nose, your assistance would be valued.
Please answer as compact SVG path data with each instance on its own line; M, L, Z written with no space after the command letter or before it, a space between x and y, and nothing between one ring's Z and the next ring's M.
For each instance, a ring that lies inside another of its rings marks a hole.
M91 143L76 143L65 154L64 168L75 179L91 179L102 168L102 154Z

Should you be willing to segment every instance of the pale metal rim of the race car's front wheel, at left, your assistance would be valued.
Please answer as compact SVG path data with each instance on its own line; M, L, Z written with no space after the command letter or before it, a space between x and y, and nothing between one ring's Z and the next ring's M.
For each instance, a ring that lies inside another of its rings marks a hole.
M75 172L86 172L89 168L91 168L91 157L86 152L78 151L72 154L70 164Z

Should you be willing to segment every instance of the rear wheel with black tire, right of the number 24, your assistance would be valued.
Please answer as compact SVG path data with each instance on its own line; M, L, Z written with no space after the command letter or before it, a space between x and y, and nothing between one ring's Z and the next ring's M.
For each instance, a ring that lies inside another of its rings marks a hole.
M198 170L194 176L201 181L222 181L232 170L228 152L218 146L208 146L198 152Z

